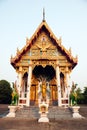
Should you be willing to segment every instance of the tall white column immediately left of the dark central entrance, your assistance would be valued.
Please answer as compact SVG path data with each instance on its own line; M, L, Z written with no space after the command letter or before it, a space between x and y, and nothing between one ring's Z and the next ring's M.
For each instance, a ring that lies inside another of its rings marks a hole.
M27 106L30 106L30 88L31 88L31 78L32 78L32 66L29 65L28 70L28 86L27 86Z

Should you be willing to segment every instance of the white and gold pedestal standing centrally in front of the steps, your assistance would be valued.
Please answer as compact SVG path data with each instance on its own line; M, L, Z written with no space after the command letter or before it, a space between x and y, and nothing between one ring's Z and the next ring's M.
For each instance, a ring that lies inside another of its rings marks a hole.
M38 122L49 122L49 119L47 117L47 113L48 113L48 104L46 104L45 101L41 102L39 104L39 113L40 113L40 118L38 120Z

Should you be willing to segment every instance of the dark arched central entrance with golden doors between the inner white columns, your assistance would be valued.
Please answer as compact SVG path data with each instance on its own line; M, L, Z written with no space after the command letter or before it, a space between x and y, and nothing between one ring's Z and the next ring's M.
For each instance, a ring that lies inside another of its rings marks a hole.
M50 104L57 100L57 86L55 82L55 70L53 66L36 65L33 69L33 83L31 85L31 105L38 104L38 96L42 96L42 99L49 97Z

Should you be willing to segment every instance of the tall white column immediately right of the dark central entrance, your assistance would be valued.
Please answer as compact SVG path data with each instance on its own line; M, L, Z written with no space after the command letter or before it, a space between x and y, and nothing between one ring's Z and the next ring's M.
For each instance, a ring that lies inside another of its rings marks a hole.
M57 80L57 88L58 88L58 106L61 106L60 71L59 71L58 63L56 66L56 80Z

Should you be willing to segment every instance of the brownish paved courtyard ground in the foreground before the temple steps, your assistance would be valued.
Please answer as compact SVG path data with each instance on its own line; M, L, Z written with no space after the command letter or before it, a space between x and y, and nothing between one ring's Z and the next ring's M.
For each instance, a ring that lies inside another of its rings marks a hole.
M3 111L0 109L0 113ZM87 106L82 106L80 113L85 119L53 120L49 123L24 118L0 118L0 130L87 130Z

